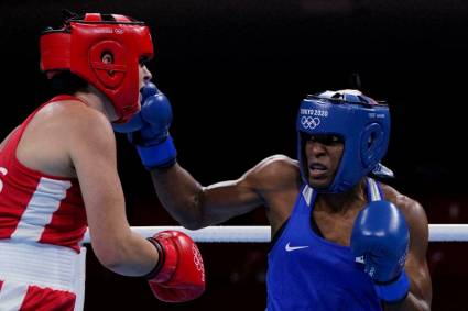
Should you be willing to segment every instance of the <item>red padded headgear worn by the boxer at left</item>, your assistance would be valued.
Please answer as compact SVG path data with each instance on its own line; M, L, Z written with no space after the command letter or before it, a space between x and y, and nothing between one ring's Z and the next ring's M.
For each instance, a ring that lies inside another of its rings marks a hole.
M139 62L153 56L143 22L118 14L72 15L62 29L43 32L40 48L48 78L59 70L81 77L110 99L118 123L139 111Z

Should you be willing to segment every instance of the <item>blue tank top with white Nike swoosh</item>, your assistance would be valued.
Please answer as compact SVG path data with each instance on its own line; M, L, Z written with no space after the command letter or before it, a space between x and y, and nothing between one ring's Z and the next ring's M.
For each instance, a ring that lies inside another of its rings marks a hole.
M368 200L383 198L367 178ZM351 248L318 236L311 227L316 191L304 185L293 212L269 253L268 310L382 310L363 265Z

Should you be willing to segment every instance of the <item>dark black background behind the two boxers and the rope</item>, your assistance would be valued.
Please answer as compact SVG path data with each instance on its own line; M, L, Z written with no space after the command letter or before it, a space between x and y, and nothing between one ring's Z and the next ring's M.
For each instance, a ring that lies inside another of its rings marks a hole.
M11 1L0 4L0 137L48 99L37 36L61 10L122 13L152 30L154 81L171 99L179 163L202 184L238 178L264 157L295 157L295 114L307 93L351 87L387 100L384 164L429 223L467 223L465 192L468 2L462 0ZM131 225L176 225L148 173L118 136ZM227 224L266 224L262 209ZM207 291L184 304L99 266L89 247L86 310L263 310L266 244L200 244ZM468 310L465 243L431 243L433 310Z

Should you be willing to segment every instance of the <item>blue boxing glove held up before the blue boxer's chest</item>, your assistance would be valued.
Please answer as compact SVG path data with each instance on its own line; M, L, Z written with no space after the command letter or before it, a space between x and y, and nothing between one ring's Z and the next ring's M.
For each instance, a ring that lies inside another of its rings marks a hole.
M385 302L399 302L410 291L404 271L410 231L400 210L389 201L370 202L359 212L351 234L351 251L374 281Z

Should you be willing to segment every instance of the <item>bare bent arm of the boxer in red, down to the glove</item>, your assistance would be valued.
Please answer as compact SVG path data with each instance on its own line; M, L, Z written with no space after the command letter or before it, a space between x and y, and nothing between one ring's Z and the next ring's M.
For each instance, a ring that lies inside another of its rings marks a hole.
M129 227L109 122L91 109L74 109L63 121L69 126L67 149L81 188L96 256L118 274L149 273L157 262L157 253Z

